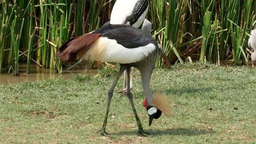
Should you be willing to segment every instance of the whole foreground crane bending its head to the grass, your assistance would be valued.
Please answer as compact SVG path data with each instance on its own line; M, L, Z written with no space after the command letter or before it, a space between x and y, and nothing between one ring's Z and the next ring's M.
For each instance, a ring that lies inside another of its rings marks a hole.
M108 135L105 130L114 88L124 70L127 70L128 81L130 80L131 67L138 68L141 74L141 82L146 97L143 105L148 112L149 126L152 124L153 119L161 116L162 112L168 115L170 108L168 108L169 104L166 104L167 100L164 99L164 96L154 96L149 87L151 74L159 52L160 49L156 40L144 34L140 29L128 25L104 24L92 33L69 40L60 47L58 56L64 62L85 59L120 64L120 70L116 79L108 90L106 116L104 117L103 127L100 131L102 135ZM145 133L133 103L133 95L130 91L129 83L127 84L126 95L132 106L139 133L144 135Z

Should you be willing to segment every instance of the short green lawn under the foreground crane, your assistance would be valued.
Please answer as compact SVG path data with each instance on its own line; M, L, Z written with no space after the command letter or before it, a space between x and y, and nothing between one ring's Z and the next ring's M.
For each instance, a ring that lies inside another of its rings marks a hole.
M144 94L136 71L134 100L144 126L153 137L136 135L136 121L126 96L114 93L107 132L100 136L107 90L116 72L73 80L44 80L0 85L0 143L242 143L256 142L256 75L246 67L212 64L175 65L156 69L153 91L175 100L175 116L161 116L148 127ZM122 88L122 82L115 90ZM115 116L115 117L113 117Z

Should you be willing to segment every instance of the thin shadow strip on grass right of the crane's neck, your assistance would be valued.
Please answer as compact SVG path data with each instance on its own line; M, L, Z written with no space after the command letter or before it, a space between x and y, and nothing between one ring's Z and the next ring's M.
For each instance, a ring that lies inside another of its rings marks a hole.
M196 92L209 92L212 88L209 87L203 87L203 88L180 88L180 89L168 89L165 92L171 93L173 95L179 95L184 93L196 93Z

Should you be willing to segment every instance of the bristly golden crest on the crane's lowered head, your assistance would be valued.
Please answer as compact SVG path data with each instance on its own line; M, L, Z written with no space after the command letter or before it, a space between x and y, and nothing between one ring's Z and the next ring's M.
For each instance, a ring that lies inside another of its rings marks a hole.
M160 109L167 117L174 115L173 99L164 92L154 93L152 105Z

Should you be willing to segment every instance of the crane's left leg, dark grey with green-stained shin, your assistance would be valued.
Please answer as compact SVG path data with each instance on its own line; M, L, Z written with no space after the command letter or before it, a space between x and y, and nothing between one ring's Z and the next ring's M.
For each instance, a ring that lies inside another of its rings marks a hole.
M108 120L108 112L109 112L109 107L110 107L110 102L111 102L111 98L113 96L113 92L114 92L114 89L116 87L116 84L118 82L118 80L120 79L120 76L122 75L122 73L124 72L124 67L121 66L120 69L119 69L119 72L116 76L116 79L114 80L114 82L112 83L112 86L111 88L108 90L108 99L107 99L107 108L106 108L106 115L104 117L104 121L103 121L103 126L102 126L102 129L100 130L100 134L101 135L108 135L108 133L106 133L106 125L107 125L107 120Z

